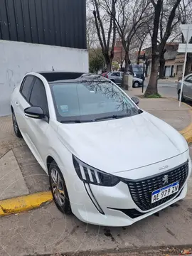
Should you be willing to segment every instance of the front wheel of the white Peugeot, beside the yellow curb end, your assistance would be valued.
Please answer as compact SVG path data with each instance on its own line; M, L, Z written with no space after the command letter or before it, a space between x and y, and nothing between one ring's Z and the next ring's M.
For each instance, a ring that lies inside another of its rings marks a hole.
M70 214L71 208L70 208L68 190L65 185L63 174L61 173L55 161L51 162L48 169L48 174L49 174L50 189L51 189L51 193L52 193L55 205L61 211L61 213Z

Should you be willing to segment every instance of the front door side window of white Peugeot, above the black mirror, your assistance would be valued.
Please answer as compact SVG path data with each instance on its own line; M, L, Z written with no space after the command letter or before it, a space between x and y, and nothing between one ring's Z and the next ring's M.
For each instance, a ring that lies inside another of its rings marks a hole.
M44 114L49 117L46 89L43 82L39 78L36 78L34 82L30 97L30 104L32 106L41 107Z

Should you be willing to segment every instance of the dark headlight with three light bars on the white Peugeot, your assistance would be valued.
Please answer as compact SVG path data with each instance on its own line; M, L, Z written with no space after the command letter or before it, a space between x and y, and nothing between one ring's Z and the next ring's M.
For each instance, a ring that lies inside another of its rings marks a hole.
M90 183L97 186L115 186L120 181L117 176L106 174L105 172L99 171L92 166L88 166L75 156L73 156L73 164L78 177L85 183Z

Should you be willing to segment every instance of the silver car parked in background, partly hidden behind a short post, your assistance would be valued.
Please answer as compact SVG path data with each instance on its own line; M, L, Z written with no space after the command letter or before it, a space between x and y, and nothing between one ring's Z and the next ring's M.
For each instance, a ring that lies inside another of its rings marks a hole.
M132 73L128 72L128 75L132 75ZM122 84L123 72L122 71L113 71L105 75L105 78L110 79L112 82L116 83L116 85ZM137 88L142 86L143 80L141 78L133 77L133 85L132 87Z

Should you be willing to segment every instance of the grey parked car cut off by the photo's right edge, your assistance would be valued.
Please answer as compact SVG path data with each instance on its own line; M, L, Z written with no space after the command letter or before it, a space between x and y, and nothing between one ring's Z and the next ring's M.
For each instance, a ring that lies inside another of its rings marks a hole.
M180 100L180 95L181 95L181 82L182 80L179 80L177 84L178 100ZM184 100L192 101L192 74L186 75L186 77L183 80L183 92L181 95L181 101L184 101Z

